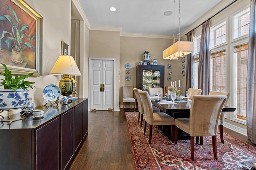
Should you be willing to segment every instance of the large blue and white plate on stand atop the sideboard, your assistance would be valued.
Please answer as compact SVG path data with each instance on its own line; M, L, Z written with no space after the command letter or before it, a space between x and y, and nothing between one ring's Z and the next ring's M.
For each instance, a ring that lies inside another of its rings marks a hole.
M60 96L60 88L55 84L49 84L43 90L43 98L46 102L56 102Z

